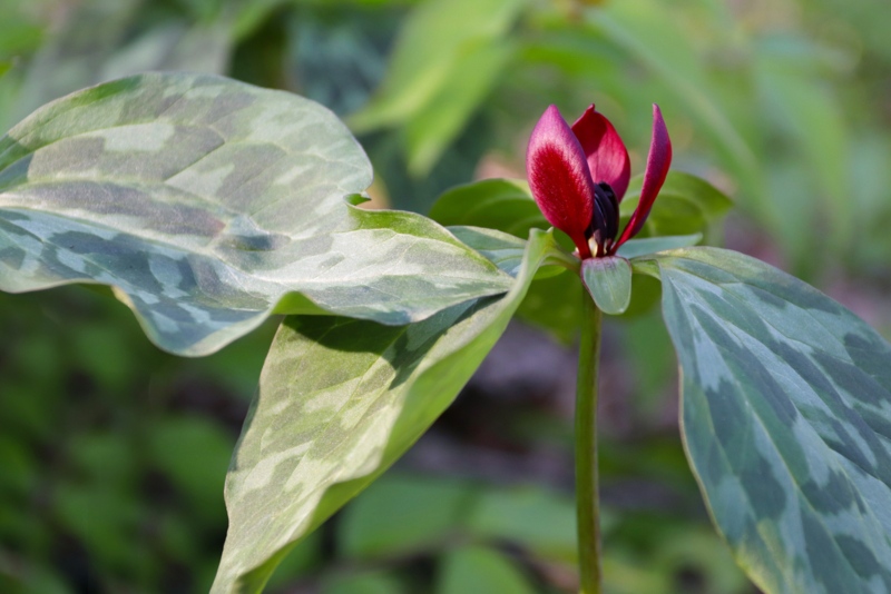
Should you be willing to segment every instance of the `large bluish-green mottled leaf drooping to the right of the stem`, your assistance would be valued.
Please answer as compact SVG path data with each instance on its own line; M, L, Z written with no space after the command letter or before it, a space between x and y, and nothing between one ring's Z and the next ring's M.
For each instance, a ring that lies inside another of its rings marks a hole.
M746 256L655 261L687 454L740 564L771 594L891 592L891 345Z

